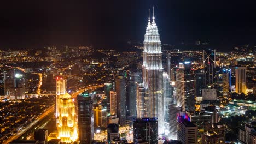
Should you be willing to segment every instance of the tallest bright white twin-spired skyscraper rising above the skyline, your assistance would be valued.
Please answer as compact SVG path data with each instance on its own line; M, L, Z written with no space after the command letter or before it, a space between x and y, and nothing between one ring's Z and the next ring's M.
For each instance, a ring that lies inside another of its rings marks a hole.
M153 21L146 29L143 50L143 83L145 85L149 99L149 117L158 118L159 133L164 130L164 99L163 99L163 68L161 41L158 27L155 23L154 7Z

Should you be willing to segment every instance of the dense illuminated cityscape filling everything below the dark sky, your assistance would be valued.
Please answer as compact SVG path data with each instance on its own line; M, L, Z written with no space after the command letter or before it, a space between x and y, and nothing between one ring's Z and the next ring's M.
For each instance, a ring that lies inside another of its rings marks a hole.
M256 143L256 45L161 43L157 23L122 50L0 50L0 143Z

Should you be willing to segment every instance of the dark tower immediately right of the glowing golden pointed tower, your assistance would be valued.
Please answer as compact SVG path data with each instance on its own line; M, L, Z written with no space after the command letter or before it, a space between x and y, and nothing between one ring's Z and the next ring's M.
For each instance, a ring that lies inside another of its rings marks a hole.
M77 96L78 140L79 143L92 143L94 139L94 112L92 96L83 92Z

